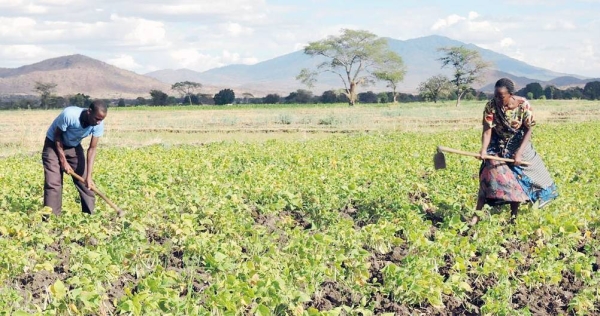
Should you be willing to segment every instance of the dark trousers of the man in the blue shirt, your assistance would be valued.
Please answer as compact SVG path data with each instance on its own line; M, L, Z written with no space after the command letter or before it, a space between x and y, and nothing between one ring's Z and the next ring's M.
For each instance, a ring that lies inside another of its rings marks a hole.
M76 147L65 147L64 152L67 157L67 162L71 168L73 168L75 173L81 177L85 177L86 163L83 147L81 147L81 145ZM52 208L52 213L55 215L60 215L62 211L63 172L60 168L56 144L48 138L46 138L46 141L44 142L42 162L44 163L44 206ZM86 188L85 184L74 178L73 182L81 197L81 210L84 213L92 214L96 202L94 192Z

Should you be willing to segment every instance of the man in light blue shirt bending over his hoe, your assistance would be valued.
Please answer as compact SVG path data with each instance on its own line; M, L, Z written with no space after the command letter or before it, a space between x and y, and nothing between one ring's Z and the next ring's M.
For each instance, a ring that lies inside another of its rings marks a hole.
M81 183L75 179L75 185L81 197L81 209L92 214L96 197L90 190L94 186L92 170L96 157L98 139L104 134L104 122L107 107L103 101L92 102L88 109L70 106L65 108L52 122L42 151L44 164L44 206L52 208L52 213L60 215L62 211L63 172L73 171L85 179ZM92 135L86 158L81 141Z

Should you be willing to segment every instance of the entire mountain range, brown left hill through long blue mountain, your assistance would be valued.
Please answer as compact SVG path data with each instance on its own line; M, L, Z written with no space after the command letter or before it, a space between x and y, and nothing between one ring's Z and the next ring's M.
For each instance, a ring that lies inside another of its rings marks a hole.
M441 63L437 60L441 54L437 49L461 45L479 51L483 59L493 64L493 69L475 86L486 92L493 90L493 83L500 77L513 79L518 87L539 82L542 85L552 84L565 88L599 80L531 66L506 55L443 36L432 35L410 40L387 38L387 41L390 49L402 56L407 69L405 79L399 87L401 92L414 93L420 82L433 75L449 75L450 69L441 69ZM34 95L36 81L56 83L55 92L58 95L85 93L105 98L147 97L151 89L174 94L171 84L179 81L200 82L203 84L203 93L216 93L222 88L232 88L239 95L244 92L256 96L267 93L287 95L291 91L305 88L295 79L302 68L315 68L322 61L320 58L311 58L303 51L296 51L254 65L234 64L204 72L166 69L141 75L87 56L69 55L19 68L0 68L0 95ZM342 87L341 80L335 75L321 75L318 79L311 89L315 93ZM382 91L386 88L381 83L372 87L360 87L360 91L367 90Z

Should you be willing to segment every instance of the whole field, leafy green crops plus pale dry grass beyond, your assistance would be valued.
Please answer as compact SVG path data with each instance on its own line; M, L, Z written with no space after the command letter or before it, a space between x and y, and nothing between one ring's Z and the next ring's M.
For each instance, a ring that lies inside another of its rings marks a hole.
M479 149L482 104L403 106L111 109L94 180L125 215L65 178L47 221L57 112L0 113L0 314L599 315L600 105L540 104L559 198L472 228L480 162L432 157Z

